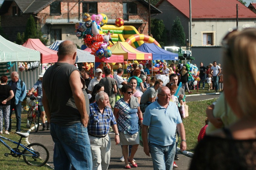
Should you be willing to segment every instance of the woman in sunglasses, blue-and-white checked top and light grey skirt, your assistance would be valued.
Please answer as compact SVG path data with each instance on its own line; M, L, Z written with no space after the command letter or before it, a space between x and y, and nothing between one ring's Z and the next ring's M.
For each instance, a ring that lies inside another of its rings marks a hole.
M121 88L123 98L118 100L114 106L114 116L117 120L120 143L123 145L122 153L125 161L125 169L131 166L137 167L133 157L139 146L139 121L142 124L142 112L139 107L138 98L132 96L133 91L130 85L124 85ZM128 145L133 145L130 158L128 158Z

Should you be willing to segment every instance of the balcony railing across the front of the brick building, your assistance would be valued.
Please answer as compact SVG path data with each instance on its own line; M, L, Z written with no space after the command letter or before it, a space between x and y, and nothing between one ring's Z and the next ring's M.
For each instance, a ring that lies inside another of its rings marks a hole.
M80 21L78 20L78 14L61 14L46 16L45 22L51 24L65 24L65 23L76 23L82 22L83 14L80 15ZM117 18L123 18L125 22L133 23L145 23L148 22L148 14L113 14L105 13L108 17L108 23L115 23Z

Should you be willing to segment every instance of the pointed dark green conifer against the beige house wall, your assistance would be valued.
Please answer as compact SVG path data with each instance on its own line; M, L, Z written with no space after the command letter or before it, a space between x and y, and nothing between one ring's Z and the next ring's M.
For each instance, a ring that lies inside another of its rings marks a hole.
M178 16L172 24L170 35L171 45L178 47L185 45L185 32L181 25L181 20Z

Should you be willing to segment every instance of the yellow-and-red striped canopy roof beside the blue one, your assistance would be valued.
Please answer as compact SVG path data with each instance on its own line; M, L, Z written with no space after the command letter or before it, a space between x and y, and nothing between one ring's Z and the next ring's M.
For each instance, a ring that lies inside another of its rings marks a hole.
M124 60L152 60L152 53L139 51L128 44L128 42L118 41L110 50L114 55L123 55Z

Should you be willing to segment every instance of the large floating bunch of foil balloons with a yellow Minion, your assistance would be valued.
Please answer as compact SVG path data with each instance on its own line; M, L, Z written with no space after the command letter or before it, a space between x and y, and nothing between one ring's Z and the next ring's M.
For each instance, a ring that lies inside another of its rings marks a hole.
M92 49L91 54L100 59L102 57L109 58L112 55L108 48L109 35L102 35L101 29L108 22L107 16L103 13L92 16L89 13L84 13L83 21L75 24L76 36L79 39L83 38L84 44Z

